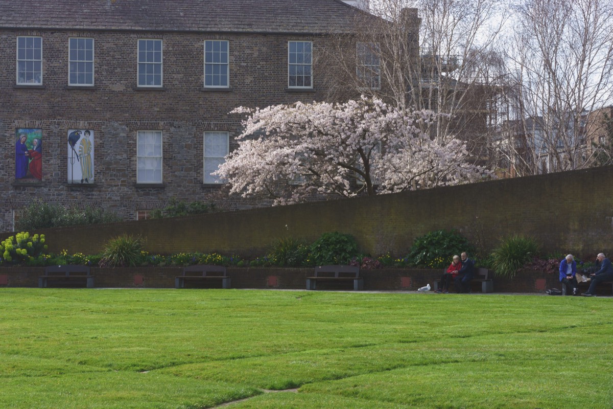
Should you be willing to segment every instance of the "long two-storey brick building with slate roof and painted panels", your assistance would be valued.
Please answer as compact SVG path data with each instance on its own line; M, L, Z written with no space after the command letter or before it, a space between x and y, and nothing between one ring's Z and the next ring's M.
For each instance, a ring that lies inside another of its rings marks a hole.
M0 231L33 199L128 220L173 197L262 205L211 176L240 134L229 112L324 99L318 56L364 13L340 0L0 0L0 10Z

